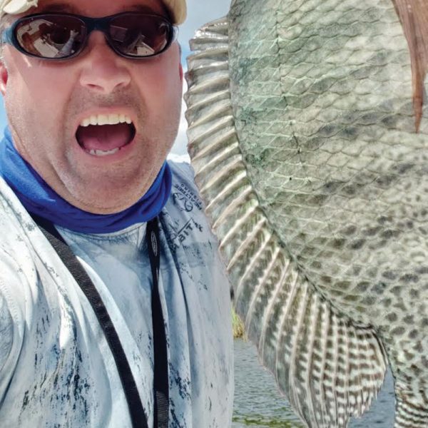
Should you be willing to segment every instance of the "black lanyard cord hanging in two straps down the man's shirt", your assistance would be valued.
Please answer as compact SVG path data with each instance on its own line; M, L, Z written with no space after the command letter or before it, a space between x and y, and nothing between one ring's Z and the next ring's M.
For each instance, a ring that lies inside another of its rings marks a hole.
M101 296L96 290L91 278L86 273L81 263L73 254L71 248L67 245L62 236L54 225L39 215L31 214L34 221L39 225L39 228L44 233L49 243L54 247L56 253L63 261L73 275L74 279L81 287L81 290L86 295L91 303L93 311L98 318L98 322L103 329L104 335L111 349L118 374L121 378L123 391L128 402L129 412L131 416L133 428L148 428L147 415L141 402L140 394L136 382L131 372L126 354L123 351L121 340L118 337L116 329L108 315L106 306L101 299ZM160 245L159 245L159 227L158 218L147 223L146 242L148 244L148 254L150 258L151 271L153 275L153 290L152 290L152 320L153 320L153 353L155 360L155 372L153 378L153 387L155 390L155 412L154 412L154 427L168 427L168 354L166 349L165 337L165 322L163 320L161 298L159 296L158 277L160 265Z

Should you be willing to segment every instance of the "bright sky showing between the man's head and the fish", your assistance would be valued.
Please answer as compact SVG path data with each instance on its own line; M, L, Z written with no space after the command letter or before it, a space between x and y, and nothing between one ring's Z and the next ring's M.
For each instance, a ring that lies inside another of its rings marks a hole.
M184 71L187 69L185 58L190 54L190 48L188 41L193 37L195 31L200 26L206 24L214 19L221 18L228 13L230 0L188 0L188 17L184 24L180 25L178 33L178 41L180 42L181 49L183 51L182 62ZM185 85L183 90L185 91ZM1 98L1 97L0 97ZM183 101L183 108L181 112L180 129L178 136L173 146L171 153L176 156L186 157L186 146L187 138L185 131L187 129L187 123L184 118L185 103ZM4 111L3 100L0 103L0 129L6 126L6 113Z

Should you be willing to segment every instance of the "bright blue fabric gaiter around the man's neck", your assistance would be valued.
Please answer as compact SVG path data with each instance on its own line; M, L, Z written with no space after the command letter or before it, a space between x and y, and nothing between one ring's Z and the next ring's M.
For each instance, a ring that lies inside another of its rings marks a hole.
M163 163L147 193L130 208L114 214L93 214L68 203L16 151L9 128L0 146L0 175L29 211L63 228L82 233L111 233L155 218L167 202L172 185L168 163Z

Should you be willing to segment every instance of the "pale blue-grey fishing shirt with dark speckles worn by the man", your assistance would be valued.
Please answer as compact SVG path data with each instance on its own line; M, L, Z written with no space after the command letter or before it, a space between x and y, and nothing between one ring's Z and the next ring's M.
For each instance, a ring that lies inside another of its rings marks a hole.
M170 163L160 218L169 427L230 426L229 285L190 166ZM51 245L0 180L0 426L131 427L96 315ZM117 233L58 228L96 285L153 427L152 276L146 224Z

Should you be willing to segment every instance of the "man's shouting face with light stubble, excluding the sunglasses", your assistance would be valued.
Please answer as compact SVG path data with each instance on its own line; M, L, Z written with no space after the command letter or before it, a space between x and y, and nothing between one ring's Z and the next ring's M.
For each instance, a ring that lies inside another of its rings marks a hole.
M101 17L143 7L166 16L160 0L60 1L43 0L31 14ZM183 73L177 43L153 58L128 59L93 31L80 55L58 62L6 45L0 76L16 148L59 195L91 213L114 213L146 193L178 130ZM108 114L131 118L135 136L127 126L80 127Z

